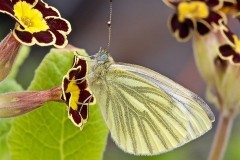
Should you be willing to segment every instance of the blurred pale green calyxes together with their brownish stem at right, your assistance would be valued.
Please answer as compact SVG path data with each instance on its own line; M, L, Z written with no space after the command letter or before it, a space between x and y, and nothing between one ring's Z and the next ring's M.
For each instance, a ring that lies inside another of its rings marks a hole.
M194 35L195 60L207 83L207 98L219 110L218 128L209 160L223 158L234 117L240 109L240 66L219 57L226 38L217 30L202 37Z

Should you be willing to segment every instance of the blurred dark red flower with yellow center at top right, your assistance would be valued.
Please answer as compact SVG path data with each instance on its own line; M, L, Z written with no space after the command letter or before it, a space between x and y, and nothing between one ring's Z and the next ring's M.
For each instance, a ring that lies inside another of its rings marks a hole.
M168 25L179 41L189 40L193 30L199 35L206 35L219 25L219 20L223 19L226 22L225 15L219 11L223 6L221 0L164 0L164 2L176 10L170 17Z

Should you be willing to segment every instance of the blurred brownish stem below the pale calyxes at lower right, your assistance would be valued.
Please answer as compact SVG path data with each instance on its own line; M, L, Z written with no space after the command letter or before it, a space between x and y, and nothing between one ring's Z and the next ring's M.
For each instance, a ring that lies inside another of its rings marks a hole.
M226 146L232 129L234 116L232 114L220 113L217 131L208 160L221 160L224 157Z

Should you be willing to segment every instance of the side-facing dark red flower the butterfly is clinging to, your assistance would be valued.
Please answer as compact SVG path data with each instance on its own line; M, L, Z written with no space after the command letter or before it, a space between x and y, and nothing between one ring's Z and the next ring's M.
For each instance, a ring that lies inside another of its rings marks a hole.
M95 103L86 80L87 63L75 55L72 68L63 77L62 100L68 105L68 116L72 122L83 128L88 120L88 106Z

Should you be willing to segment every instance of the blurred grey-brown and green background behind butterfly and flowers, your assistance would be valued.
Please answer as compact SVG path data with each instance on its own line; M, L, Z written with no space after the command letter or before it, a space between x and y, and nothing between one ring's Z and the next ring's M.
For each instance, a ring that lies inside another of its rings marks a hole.
M69 43L84 48L92 55L107 45L109 18L108 0L46 0L55 6L72 24ZM111 55L115 61L133 63L151 68L180 83L205 99L205 84L194 63L191 42L178 43L167 28L172 10L161 0L113 0ZM9 16L0 14L0 38L14 27ZM50 47L33 46L29 58L21 67L17 80L27 88ZM211 106L211 105L210 105ZM153 157L132 156L121 151L109 138L104 160L204 160L207 159L218 121L202 137L174 151ZM225 160L240 159L240 118L235 120ZM79 142L81 143L81 142ZM93 146L94 147L94 146Z

